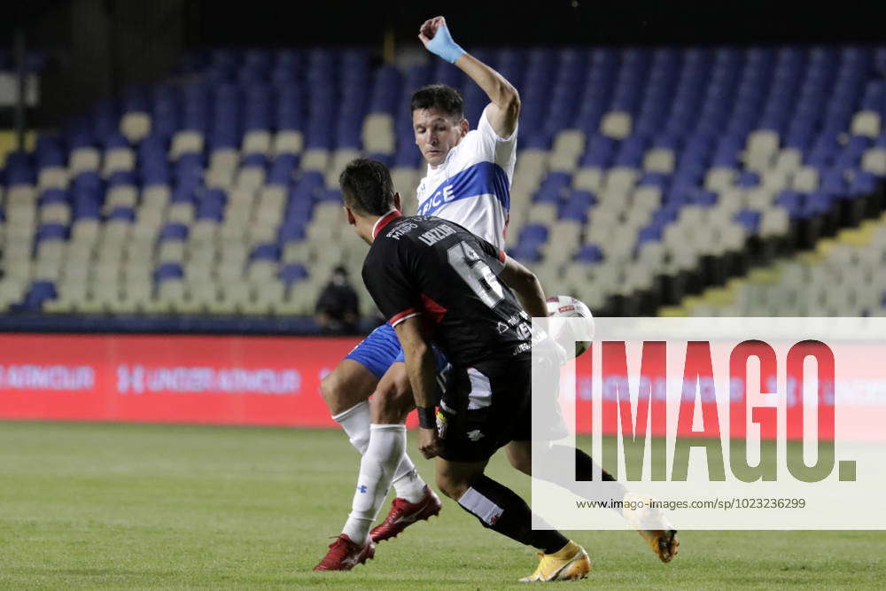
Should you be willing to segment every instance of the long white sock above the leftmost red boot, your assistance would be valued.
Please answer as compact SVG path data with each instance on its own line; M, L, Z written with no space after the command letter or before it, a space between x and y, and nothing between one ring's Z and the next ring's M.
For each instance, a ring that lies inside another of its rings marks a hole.
M405 451L406 425L370 426L369 447L360 463L354 504L342 529L342 533L355 543L363 545L369 540L369 528L385 502L394 471L402 462Z

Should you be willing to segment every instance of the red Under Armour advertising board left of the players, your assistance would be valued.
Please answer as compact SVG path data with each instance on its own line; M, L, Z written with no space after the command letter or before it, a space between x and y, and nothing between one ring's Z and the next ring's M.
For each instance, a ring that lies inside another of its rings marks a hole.
M357 342L0 335L0 418L331 426L320 380Z

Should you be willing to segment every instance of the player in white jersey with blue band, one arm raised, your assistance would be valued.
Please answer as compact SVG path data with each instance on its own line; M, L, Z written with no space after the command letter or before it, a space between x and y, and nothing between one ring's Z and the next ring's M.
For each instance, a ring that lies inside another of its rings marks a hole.
M432 86L416 92L411 105L416 144L428 162L418 213L457 222L501 248L517 153L517 89L456 45L443 17L425 21L419 38L428 51L468 74L491 102L478 128L469 131L455 89ZM374 554L374 542L439 513L439 498L405 453L403 423L412 397L403 361L396 334L386 323L323 379L321 391L332 418L362 458L346 525L315 570L350 570ZM397 498L385 521L370 533L391 483Z

